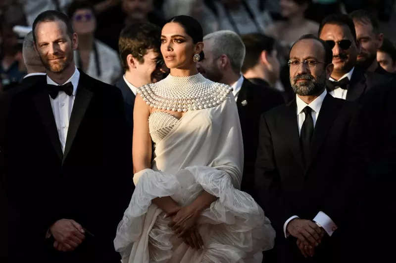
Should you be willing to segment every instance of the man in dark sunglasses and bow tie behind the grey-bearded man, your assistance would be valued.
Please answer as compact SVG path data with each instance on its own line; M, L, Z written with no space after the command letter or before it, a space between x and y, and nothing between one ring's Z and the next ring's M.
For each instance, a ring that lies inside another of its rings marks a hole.
M325 17L318 36L333 50L334 70L327 81L327 90L333 97L360 101L367 91L390 81L389 77L356 67L360 45L356 40L353 21L347 15Z

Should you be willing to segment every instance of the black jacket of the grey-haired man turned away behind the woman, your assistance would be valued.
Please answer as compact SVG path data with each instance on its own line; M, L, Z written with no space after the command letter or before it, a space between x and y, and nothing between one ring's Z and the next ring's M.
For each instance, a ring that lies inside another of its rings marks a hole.
M251 195L254 194L254 161L257 152L260 115L282 103L283 99L279 93L244 79L237 98L245 154L241 190Z

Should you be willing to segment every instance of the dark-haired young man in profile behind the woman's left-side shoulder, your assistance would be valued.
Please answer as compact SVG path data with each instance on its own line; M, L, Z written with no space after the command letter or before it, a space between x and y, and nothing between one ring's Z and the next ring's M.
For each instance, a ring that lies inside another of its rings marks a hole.
M151 23L136 23L120 34L118 50L125 74L115 83L124 98L132 154L133 106L137 88L161 80L168 69L160 52L161 29Z

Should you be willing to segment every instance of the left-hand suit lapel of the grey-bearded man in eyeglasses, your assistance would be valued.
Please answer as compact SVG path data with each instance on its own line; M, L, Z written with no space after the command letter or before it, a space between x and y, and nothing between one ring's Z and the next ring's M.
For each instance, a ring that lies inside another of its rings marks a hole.
M284 127L282 130L284 131L283 138L286 143L290 146L290 149L293 152L297 162L300 164L301 169L304 170L303 162L302 162L302 152L300 146L300 137L298 134L298 122L297 122L297 103L296 99L290 102L282 117L281 123L283 123Z

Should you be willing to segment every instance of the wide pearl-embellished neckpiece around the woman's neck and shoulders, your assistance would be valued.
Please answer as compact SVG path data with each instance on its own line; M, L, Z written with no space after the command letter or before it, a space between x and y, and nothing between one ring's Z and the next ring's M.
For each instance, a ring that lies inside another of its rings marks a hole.
M160 110L187 112L221 104L232 87L213 82L201 74L168 75L161 81L138 88L138 93L150 106Z

